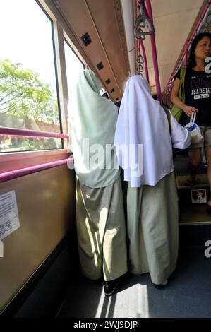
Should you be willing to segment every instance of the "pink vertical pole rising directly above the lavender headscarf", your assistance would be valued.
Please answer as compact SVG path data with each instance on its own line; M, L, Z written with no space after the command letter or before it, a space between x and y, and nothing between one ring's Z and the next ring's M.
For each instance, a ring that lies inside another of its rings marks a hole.
M146 0L146 6L147 6L147 13L148 16L153 24L153 16L152 16L152 6L150 3L150 0ZM156 43L155 43L155 32L150 35L151 40L151 46L152 46L152 59L153 59L153 66L155 71L155 83L156 83L156 91L157 91L157 100L161 100L161 89L160 89L160 83L159 83L159 69L158 69L158 63L157 63L157 50L156 50Z

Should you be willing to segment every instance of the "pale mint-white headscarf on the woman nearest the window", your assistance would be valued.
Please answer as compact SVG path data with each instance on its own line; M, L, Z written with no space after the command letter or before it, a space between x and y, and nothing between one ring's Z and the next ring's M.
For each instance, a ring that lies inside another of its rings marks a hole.
M80 183L91 188L114 183L120 173L114 151L106 154L106 146L114 148L117 107L101 97L100 89L100 81L86 69L78 80L73 102L68 105L75 171Z

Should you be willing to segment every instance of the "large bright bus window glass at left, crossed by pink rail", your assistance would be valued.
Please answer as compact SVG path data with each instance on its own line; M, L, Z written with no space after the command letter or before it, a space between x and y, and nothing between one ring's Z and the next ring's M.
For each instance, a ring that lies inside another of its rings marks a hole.
M35 0L1 1L0 126L61 132L52 21ZM0 152L61 148L61 139L0 136Z

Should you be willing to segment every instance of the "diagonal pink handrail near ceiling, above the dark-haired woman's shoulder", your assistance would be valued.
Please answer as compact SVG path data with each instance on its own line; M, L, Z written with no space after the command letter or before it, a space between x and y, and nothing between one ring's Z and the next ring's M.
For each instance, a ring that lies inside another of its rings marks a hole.
M207 12L207 9L209 8L210 4L211 4L211 0L207 0L207 4L205 5L205 8L204 8L204 10L203 10L203 13L201 14L201 16L200 16L200 18L199 18L199 20L198 20L198 23L195 25L195 28L194 28L193 33L192 33L192 35L191 35L191 38L190 38L189 40L186 40L186 45L185 45L184 52L182 53L182 55L181 55L179 61L177 61L176 68L175 68L174 71L171 73L171 76L170 76L170 78L169 78L169 81L168 81L168 83L167 83L167 85L166 85L166 89L165 89L165 90L167 90L167 89L169 88L169 85L171 85L171 81L172 81L172 79L174 78L176 72L178 71L179 63L180 63L181 61L183 61L183 58L184 58L184 57L185 57L185 66L188 65L188 54L187 54L187 53L188 53L188 47L190 46L190 44L191 44L191 42L192 42L192 40L193 40L193 37L195 37L195 33L197 32L197 30L198 30L198 28L199 28L199 26L200 26L200 23L202 22L203 18L205 17L205 13Z

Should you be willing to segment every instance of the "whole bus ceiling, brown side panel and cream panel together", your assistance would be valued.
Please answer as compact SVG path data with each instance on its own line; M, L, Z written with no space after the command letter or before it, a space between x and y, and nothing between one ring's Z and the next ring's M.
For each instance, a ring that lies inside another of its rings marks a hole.
M166 90L186 40L210 2L41 1L49 6L69 42L95 71L114 101L121 100L128 77L135 73L141 72L148 79L152 94L157 93L159 97L159 93ZM140 35L141 30L146 33Z

